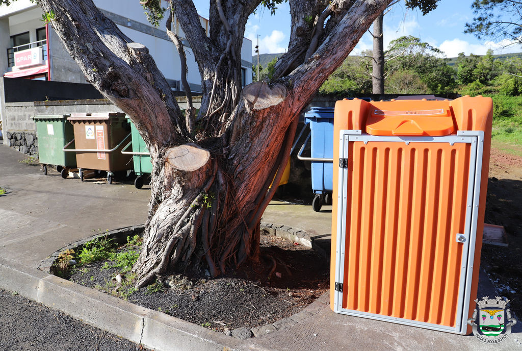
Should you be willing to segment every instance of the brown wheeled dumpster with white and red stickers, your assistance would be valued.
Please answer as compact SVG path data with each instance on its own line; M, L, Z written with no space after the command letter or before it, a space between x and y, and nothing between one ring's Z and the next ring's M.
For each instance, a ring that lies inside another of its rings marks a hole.
M76 148L64 151L76 152L76 163L83 180L83 170L107 172L107 182L112 183L114 172L132 169L132 155L122 154L125 141L130 141L131 125L125 113L73 113L67 118L74 127Z

